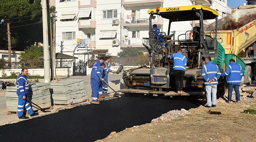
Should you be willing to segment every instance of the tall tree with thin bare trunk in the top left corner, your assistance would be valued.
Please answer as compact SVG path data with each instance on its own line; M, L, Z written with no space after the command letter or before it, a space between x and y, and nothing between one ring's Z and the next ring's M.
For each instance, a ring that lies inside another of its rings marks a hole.
M0 17L6 21L7 28L7 44L8 44L8 61L11 62L11 29L12 27L26 26L25 23L30 23L33 18L40 14L40 0L35 0L30 4L30 0L1 0L0 2ZM41 16L42 17L42 16ZM20 22L27 21L19 25ZM14 24L12 24L14 23ZM2 28L0 28L2 29ZM23 28L21 28L23 29ZM29 30L33 31L33 30ZM22 39L22 36L21 36ZM10 66L10 65L9 65Z

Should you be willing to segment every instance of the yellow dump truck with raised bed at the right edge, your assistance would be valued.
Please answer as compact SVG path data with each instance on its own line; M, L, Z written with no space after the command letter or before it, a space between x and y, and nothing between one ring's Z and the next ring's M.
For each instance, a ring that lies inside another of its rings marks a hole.
M215 23L212 23L205 26L204 31L215 31L215 28ZM240 57L246 64L240 85L256 80L256 6L239 6L234 13L218 20L217 29L218 42L225 49L226 56L232 54L235 60ZM225 68L227 66L225 64Z

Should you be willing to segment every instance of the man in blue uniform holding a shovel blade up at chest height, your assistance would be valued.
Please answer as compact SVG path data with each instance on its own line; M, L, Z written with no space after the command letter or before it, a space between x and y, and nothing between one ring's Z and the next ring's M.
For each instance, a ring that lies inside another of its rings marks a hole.
M103 79L106 83L108 83L108 73L109 72L112 72L112 73L116 73L117 71L112 71L110 69L110 67L108 66L108 63L110 62L110 57L106 57L105 58L105 61L104 61L104 64L105 64L105 71L103 72ZM108 91L108 86L106 86L106 84L103 83L103 92L102 94L105 96L105 97L109 97L110 95L107 94L107 91Z

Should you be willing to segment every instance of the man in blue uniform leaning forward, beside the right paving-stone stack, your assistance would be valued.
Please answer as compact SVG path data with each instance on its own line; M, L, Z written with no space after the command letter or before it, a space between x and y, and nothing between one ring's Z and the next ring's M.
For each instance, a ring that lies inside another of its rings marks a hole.
M91 88L92 88L92 104L100 104L98 102L98 90L100 88L100 83L102 80L102 73L105 68L105 64L102 63L91 76Z

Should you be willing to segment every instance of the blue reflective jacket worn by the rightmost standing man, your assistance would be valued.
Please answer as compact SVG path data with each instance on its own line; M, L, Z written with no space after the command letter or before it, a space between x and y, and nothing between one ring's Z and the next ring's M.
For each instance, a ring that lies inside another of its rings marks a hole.
M227 84L240 84L242 79L242 67L236 62L232 62L221 75L226 76Z

